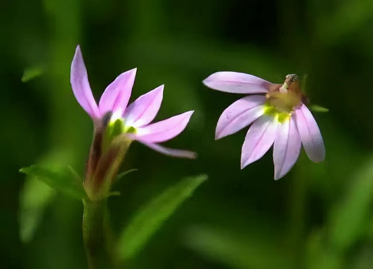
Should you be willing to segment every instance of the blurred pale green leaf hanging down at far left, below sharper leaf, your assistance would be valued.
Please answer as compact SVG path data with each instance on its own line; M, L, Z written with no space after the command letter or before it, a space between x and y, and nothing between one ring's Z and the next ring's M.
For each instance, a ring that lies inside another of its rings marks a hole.
M19 196L19 236L23 243L34 238L36 228L44 215L44 209L54 197L51 187L35 178L28 178Z

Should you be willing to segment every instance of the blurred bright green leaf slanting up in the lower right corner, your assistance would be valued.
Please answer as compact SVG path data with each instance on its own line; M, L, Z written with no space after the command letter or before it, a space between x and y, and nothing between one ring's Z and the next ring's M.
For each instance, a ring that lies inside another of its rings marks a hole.
M343 267L344 255L348 248L366 236L363 227L372 218L372 161L373 158L370 157L350 178L351 187L348 188L344 200L330 212L326 227L314 232L308 239L308 268Z

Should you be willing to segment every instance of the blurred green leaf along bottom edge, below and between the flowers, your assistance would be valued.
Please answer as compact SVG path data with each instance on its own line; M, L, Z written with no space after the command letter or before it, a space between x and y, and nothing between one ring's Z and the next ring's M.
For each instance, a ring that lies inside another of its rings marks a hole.
M232 228L195 226L187 231L185 243L207 259L228 268L292 268L286 250L278 247L273 237L266 237L260 228L244 234Z

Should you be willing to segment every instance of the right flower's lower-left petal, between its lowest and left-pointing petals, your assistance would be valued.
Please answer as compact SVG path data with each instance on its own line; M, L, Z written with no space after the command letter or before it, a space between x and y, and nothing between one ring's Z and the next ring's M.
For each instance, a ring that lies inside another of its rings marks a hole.
M278 121L272 116L263 115L250 126L242 145L241 169L260 159L275 140Z

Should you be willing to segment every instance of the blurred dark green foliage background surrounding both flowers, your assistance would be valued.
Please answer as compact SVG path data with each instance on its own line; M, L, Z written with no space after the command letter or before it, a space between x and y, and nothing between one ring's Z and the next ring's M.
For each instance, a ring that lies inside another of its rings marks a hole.
M109 199L118 233L177 178L209 175L131 268L373 267L373 1L3 0L0 14L1 268L87 267L82 203L18 173L40 163L84 175L93 125L69 83L77 44L96 99L138 67L131 100L165 84L159 120L195 110L166 144L197 160L138 143L125 158L121 171L138 172ZM214 141L220 114L241 97L202 85L217 71L276 83L307 74L311 104L329 109L315 113L325 161L302 152L275 182L270 151L240 170L247 128Z

